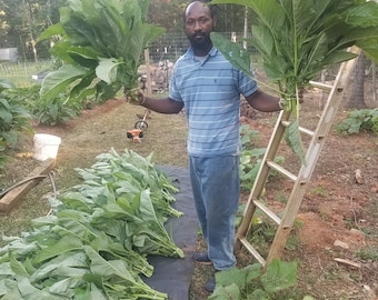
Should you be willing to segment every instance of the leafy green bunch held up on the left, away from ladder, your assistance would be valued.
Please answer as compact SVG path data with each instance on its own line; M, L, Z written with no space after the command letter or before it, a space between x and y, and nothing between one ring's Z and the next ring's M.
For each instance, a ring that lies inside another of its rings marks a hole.
M120 89L133 96L138 67L148 46L165 30L147 22L149 0L69 0L60 9L60 22L39 40L61 39L51 53L62 66L49 73L42 98L70 90L70 98L96 96L108 100Z

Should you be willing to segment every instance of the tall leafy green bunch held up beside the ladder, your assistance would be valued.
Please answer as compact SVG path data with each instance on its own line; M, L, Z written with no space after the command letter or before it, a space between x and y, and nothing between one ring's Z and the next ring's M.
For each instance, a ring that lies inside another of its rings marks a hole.
M272 88L294 120L285 139L305 163L299 134L300 91L322 69L356 57L348 48L359 47L378 61L378 3L366 0L213 0L252 11L251 38L247 43L263 59ZM237 68L250 74L250 53L213 32L215 46Z

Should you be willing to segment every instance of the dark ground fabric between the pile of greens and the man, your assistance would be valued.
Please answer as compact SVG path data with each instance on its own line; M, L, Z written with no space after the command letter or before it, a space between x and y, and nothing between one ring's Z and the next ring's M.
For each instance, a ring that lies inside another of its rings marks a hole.
M168 293L169 300L187 300L193 271L191 254L196 250L199 228L189 171L178 167L157 168L165 171L179 189L172 207L183 212L183 216L169 219L166 228L172 233L173 241L186 257L183 259L149 257L148 261L155 267L155 271L151 278L143 278L143 281L155 290Z

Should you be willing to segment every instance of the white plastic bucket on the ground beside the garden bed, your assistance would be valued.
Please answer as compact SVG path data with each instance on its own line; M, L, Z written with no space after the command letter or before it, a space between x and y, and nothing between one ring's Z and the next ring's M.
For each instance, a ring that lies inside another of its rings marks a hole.
M56 136L38 133L33 138L33 157L37 160L57 159L61 139Z

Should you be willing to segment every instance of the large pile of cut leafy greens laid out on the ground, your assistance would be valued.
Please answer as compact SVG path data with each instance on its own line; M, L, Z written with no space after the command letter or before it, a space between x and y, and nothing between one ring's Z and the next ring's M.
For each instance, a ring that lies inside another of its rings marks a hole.
M140 274L153 272L148 254L183 257L163 227L181 216L168 208L175 198L163 197L177 188L151 156L128 150L77 171L83 182L51 198L52 213L20 237L2 237L0 298L167 299Z

